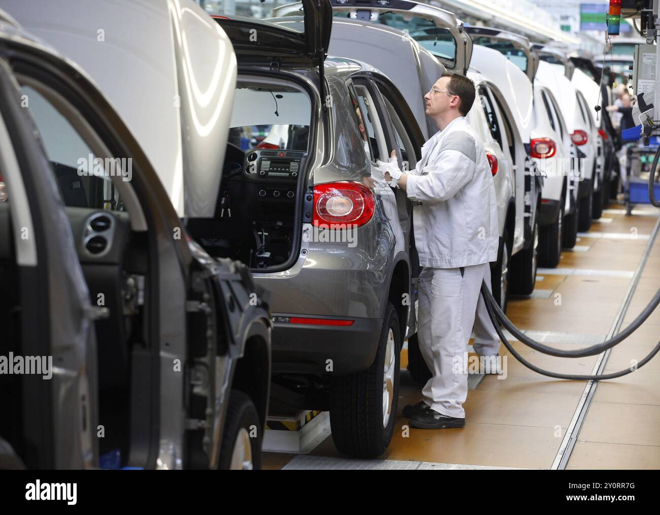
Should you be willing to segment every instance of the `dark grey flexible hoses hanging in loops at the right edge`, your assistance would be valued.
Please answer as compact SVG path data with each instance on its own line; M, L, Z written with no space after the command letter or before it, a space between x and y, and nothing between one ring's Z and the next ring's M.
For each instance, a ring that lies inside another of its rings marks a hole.
M655 186L654 184L655 168L659 160L660 160L660 147L658 147L655 153L655 157L653 158L653 163L651 164L651 170L649 171L649 199L651 200L651 204L655 207L660 207L660 201L657 201L655 199L655 191L653 190L653 187ZM526 359L524 359L521 355L519 355L515 351L515 349L513 349L512 345L506 339L506 336L504 335L502 329L500 328L500 322L502 322L502 325L506 327L506 329L508 329L508 331L510 331L510 333L512 333L512 335L514 335L519 341L527 345L527 347L531 347L531 349L535 349L535 351L539 351L543 354L561 357L561 358L581 358L585 356L594 356L601 354L604 351L607 351L607 349L611 349L615 345L618 345L619 343L624 341L624 339L630 336L636 329L638 329L638 327L644 324L645 320L649 318L651 313L653 313L655 308L657 308L658 304L660 304L660 289L658 289L658 291L655 292L655 295L653 295L653 298L651 298L650 302L645 306L642 312L635 318L635 320L633 320L628 325L628 327L623 329L623 331L620 331L620 333L614 335L609 340L603 341L603 343L597 343L596 345L591 345L591 347L576 349L574 351L564 351L563 349L556 349L555 347L550 347L549 345L545 345L523 334L517 327L515 327L512 324L511 320L509 320L504 314L504 312L500 309L500 306L498 306L494 296L492 295L490 289L488 288L488 285L486 285L486 281L483 281L481 284L481 294L484 296L484 300L486 301L486 308L488 309L488 315L490 316L490 320L492 321L493 326L495 327L495 330L498 333L498 336L502 340L502 343L504 343L504 346L509 350L510 353L512 353L515 359L519 360L519 362L527 366L527 368L529 368L530 370L533 370L538 374L542 374L543 376L548 376L556 379L572 379L572 380L581 380L581 381L614 379L621 376L625 376L626 374L630 374L631 372L634 372L638 368L641 368L647 362L653 359L653 357L655 357L658 351L660 351L660 341L659 341L657 345L653 347L653 350L646 357L644 357L644 359L640 360L640 362L638 362L638 364L635 367L631 366L630 368L625 368L624 370L619 370L618 372L613 372L612 374L601 374L599 376L593 376L593 375L589 376L582 374L558 374L556 372L550 372L549 370L543 370L543 368L539 368L538 366L535 366Z

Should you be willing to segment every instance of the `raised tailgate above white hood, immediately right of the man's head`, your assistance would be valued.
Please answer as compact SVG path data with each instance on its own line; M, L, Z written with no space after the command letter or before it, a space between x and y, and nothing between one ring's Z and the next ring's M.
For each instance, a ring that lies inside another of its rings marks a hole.
M502 53L517 67L525 72L531 83L539 68L539 55L532 50L531 43L525 36L514 34L508 30L491 27L465 27L472 36L473 44L487 46Z

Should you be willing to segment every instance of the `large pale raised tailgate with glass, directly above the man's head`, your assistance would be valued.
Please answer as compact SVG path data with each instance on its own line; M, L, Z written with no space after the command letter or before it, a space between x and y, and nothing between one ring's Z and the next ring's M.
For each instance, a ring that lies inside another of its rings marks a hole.
M333 16L381 23L408 32L416 42L457 73L465 75L472 40L453 13L412 0L330 0ZM300 15L302 3L273 9L274 17Z

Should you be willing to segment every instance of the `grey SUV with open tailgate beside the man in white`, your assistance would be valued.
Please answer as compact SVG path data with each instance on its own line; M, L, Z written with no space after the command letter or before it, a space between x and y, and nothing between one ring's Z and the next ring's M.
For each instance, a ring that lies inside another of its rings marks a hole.
M422 134L382 73L326 58L327 0L320 9L307 0L300 18L278 24L216 20L238 56L224 211L220 201L215 217L187 227L212 255L250 263L273 293L273 411L329 410L341 452L378 456L393 432L401 344L415 327L417 259L411 203L376 160L396 149L401 166L414 166Z

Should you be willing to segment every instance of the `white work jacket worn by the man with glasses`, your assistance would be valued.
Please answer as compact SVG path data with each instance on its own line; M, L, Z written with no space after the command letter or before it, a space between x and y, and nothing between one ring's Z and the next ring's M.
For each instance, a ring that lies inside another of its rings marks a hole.
M463 116L422 147L406 191L414 201L414 242L423 267L497 261L495 186L479 135Z

